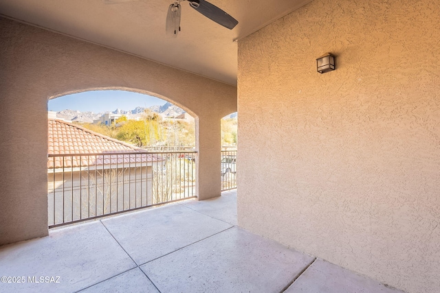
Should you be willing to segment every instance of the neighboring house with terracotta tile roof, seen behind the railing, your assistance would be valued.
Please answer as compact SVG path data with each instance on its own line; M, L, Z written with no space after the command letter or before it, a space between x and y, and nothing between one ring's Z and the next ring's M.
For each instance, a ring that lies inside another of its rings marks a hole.
M161 169L163 160L156 154L133 152L144 150L48 119L49 224L152 204L153 170ZM66 154L74 155L62 156Z

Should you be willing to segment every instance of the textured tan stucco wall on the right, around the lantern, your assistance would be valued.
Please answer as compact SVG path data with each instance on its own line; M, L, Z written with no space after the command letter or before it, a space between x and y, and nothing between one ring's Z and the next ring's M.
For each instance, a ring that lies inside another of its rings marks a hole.
M439 292L439 40L437 0L315 0L241 40L239 225Z

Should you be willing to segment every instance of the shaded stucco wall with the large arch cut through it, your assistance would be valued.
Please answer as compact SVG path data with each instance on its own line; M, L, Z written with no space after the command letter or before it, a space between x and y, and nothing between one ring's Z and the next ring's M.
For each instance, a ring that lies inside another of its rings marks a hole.
M126 89L186 109L201 130L199 199L220 195L220 119L236 111L235 86L4 18L0 74L0 245L47 235L47 99L66 93Z

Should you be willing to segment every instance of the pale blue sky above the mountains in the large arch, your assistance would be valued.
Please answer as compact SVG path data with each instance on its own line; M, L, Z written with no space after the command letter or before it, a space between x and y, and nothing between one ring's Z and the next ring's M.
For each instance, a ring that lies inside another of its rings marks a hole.
M155 105L163 105L166 101L150 95L133 93L130 91L86 91L64 95L47 102L47 110L61 111L65 109L79 110L80 112L91 111L100 113L121 110L133 110L137 106L148 108Z

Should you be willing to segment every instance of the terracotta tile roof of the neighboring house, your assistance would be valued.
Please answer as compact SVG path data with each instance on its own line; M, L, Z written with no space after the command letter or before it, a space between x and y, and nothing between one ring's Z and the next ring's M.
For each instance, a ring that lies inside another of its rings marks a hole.
M65 121L48 119L48 154L108 154L94 156L65 156L64 167L87 167L107 164L140 163L162 161L155 154L112 154L114 152L144 152L133 145L106 137L87 128ZM63 157L47 158L47 167L63 167ZM145 165L145 164L144 164Z

